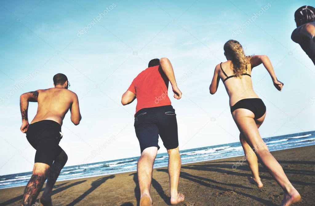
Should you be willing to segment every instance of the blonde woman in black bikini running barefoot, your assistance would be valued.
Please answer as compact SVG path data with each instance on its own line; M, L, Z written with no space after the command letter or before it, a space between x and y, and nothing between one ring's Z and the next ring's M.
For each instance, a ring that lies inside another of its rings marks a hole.
M210 94L215 94L219 81L222 79L230 97L232 117L240 131L239 138L253 175L248 178L249 181L258 187L263 186L258 174L258 157L284 190L281 205L287 206L298 202L301 199L299 192L292 186L281 165L269 152L258 132L258 128L266 117L266 106L253 90L252 69L263 64L272 78L273 85L279 91L281 91L283 83L278 81L266 55L245 56L241 44L236 40L229 40L224 44L224 55L227 61L221 62L215 67L209 89Z

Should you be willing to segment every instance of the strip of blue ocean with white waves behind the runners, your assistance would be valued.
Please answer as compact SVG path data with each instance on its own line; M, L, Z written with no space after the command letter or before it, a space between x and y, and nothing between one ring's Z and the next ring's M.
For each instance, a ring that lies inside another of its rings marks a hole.
M310 146L315 145L315 131L267 137L263 138L263 140L270 151ZM238 157L243 155L244 152L240 142L180 151L182 164L223 159L228 157ZM129 157L98 163L67 166L61 170L57 181L136 171L138 158L139 157ZM168 154L157 154L154 162L154 168L166 167L167 164ZM31 172L2 175L0 176L0 189L25 186L28 180L31 178L31 175Z

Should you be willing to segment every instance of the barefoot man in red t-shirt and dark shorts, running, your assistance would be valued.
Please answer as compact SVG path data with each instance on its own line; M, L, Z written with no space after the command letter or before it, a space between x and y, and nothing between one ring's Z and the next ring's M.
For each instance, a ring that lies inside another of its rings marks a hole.
M149 62L149 68L134 79L121 100L123 105L127 105L137 99L135 132L141 150L137 165L140 206L152 205L150 187L153 163L160 148L159 135L169 154L170 202L177 204L185 199L185 196L177 191L181 159L176 114L168 97L169 82L174 98L179 100L182 93L177 87L170 61L167 58L153 59Z

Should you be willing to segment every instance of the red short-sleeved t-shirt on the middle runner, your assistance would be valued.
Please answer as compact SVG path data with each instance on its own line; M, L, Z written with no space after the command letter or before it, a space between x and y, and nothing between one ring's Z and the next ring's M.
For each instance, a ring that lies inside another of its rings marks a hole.
M169 80L158 68L152 66L142 71L128 88L137 98L136 113L143 108L171 105L167 91Z

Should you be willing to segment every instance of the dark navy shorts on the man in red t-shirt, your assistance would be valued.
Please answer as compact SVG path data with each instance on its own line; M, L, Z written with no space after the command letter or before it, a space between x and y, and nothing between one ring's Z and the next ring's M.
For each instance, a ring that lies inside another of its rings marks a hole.
M158 146L160 135L166 149L178 147L175 109L171 105L140 109L135 114L135 132L141 153L148 147Z

